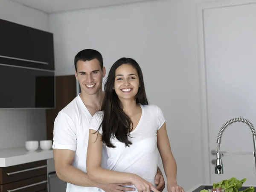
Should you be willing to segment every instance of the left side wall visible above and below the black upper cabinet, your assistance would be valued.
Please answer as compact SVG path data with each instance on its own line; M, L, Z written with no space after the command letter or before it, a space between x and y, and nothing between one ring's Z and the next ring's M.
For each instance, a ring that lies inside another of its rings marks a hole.
M0 19L49 31L47 14L10 0L0 0ZM24 146L26 140L44 139L46 139L45 110L0 109L0 149Z

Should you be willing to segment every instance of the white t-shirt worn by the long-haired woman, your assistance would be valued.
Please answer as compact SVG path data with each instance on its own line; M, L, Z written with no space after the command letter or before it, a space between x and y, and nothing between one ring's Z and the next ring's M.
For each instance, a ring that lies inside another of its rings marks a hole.
M139 175L151 182L154 186L158 166L157 131L165 122L162 110L156 105L140 105L142 115L137 127L130 133L128 139L132 142L130 147L125 147L116 137L111 138L111 143L116 148L106 145L108 160L107 168L118 172L128 172ZM98 130L104 112L99 111L91 119L90 129ZM99 130L102 134L102 127Z

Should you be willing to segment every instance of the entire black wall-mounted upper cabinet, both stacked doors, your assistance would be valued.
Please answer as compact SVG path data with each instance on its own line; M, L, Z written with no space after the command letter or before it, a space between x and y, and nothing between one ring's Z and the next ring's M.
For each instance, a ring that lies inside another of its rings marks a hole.
M0 108L55 108L53 34L0 19Z

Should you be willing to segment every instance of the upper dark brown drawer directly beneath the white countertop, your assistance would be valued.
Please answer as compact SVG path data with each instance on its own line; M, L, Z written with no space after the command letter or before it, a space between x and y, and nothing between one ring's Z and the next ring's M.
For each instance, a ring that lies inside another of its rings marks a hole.
M47 175L46 160L0 168L0 184L12 183L39 175Z

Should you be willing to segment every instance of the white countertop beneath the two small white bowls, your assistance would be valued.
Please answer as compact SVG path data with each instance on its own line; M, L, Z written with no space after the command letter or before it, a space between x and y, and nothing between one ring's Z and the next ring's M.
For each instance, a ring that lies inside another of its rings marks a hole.
M27 151L25 147L7 148L0 150L0 167L15 166L52 158L52 149L30 152Z

